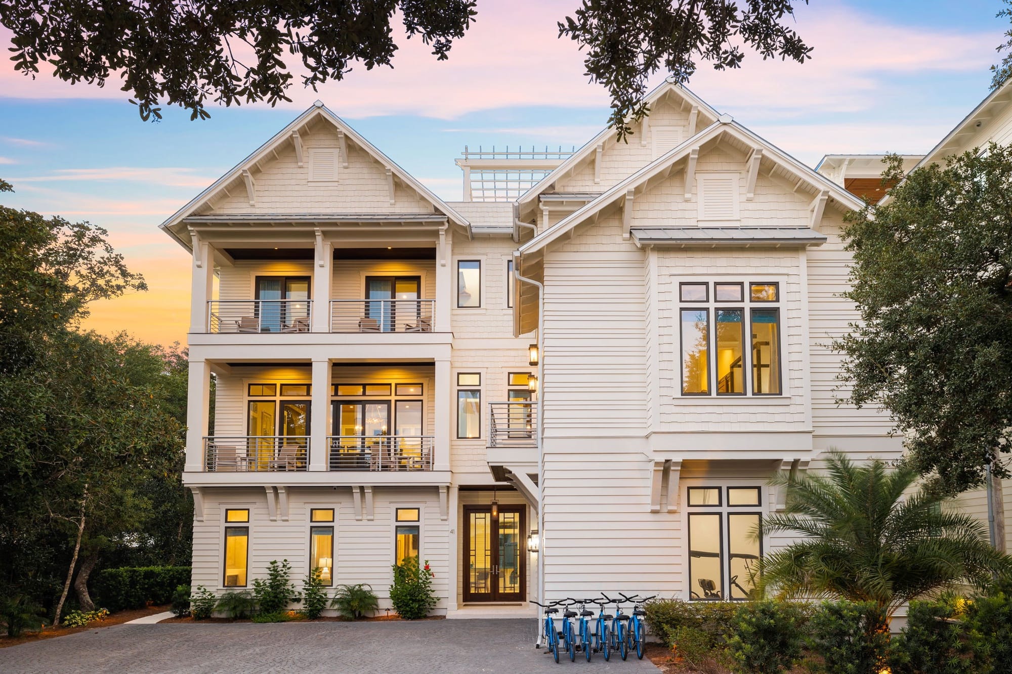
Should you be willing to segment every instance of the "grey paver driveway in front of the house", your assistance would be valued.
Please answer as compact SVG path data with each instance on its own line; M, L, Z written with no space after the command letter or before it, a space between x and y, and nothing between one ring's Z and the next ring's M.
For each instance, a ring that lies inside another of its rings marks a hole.
M0 672L657 672L617 655L558 665L530 619L121 624L0 649ZM579 655L579 654L578 654Z

